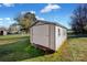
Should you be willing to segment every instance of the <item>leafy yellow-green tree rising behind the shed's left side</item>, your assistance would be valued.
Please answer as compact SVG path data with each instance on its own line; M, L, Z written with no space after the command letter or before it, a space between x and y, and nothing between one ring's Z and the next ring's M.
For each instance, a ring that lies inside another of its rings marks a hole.
M36 21L36 18L34 13L26 12L23 14L19 14L14 20L18 21L19 25L21 25L21 30L28 33L30 31L31 24Z

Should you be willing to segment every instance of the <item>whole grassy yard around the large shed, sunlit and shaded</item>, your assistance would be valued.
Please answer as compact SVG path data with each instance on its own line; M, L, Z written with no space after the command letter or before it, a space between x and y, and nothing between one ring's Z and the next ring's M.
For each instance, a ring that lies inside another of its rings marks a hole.
M0 61L4 62L67 62L87 61L87 37L69 37L62 47L53 54L46 54L35 48L29 41L29 35L0 36Z

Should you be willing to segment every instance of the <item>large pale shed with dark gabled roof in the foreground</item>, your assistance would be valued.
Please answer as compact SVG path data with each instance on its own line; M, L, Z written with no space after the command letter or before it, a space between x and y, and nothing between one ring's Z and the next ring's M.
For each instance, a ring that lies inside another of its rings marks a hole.
M67 29L54 22L37 20L30 32L31 43L45 50L57 51L67 39Z

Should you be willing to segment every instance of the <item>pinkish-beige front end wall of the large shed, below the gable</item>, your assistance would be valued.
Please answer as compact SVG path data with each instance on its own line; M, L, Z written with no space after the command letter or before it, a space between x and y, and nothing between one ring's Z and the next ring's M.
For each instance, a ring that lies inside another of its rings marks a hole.
M48 24L32 28L33 43L54 50L54 32Z

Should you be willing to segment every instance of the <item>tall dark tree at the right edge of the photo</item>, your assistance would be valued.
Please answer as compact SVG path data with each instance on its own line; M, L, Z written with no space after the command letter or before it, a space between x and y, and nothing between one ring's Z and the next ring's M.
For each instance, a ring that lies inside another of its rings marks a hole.
M87 4L80 4L74 10L70 25L75 33L87 34Z

